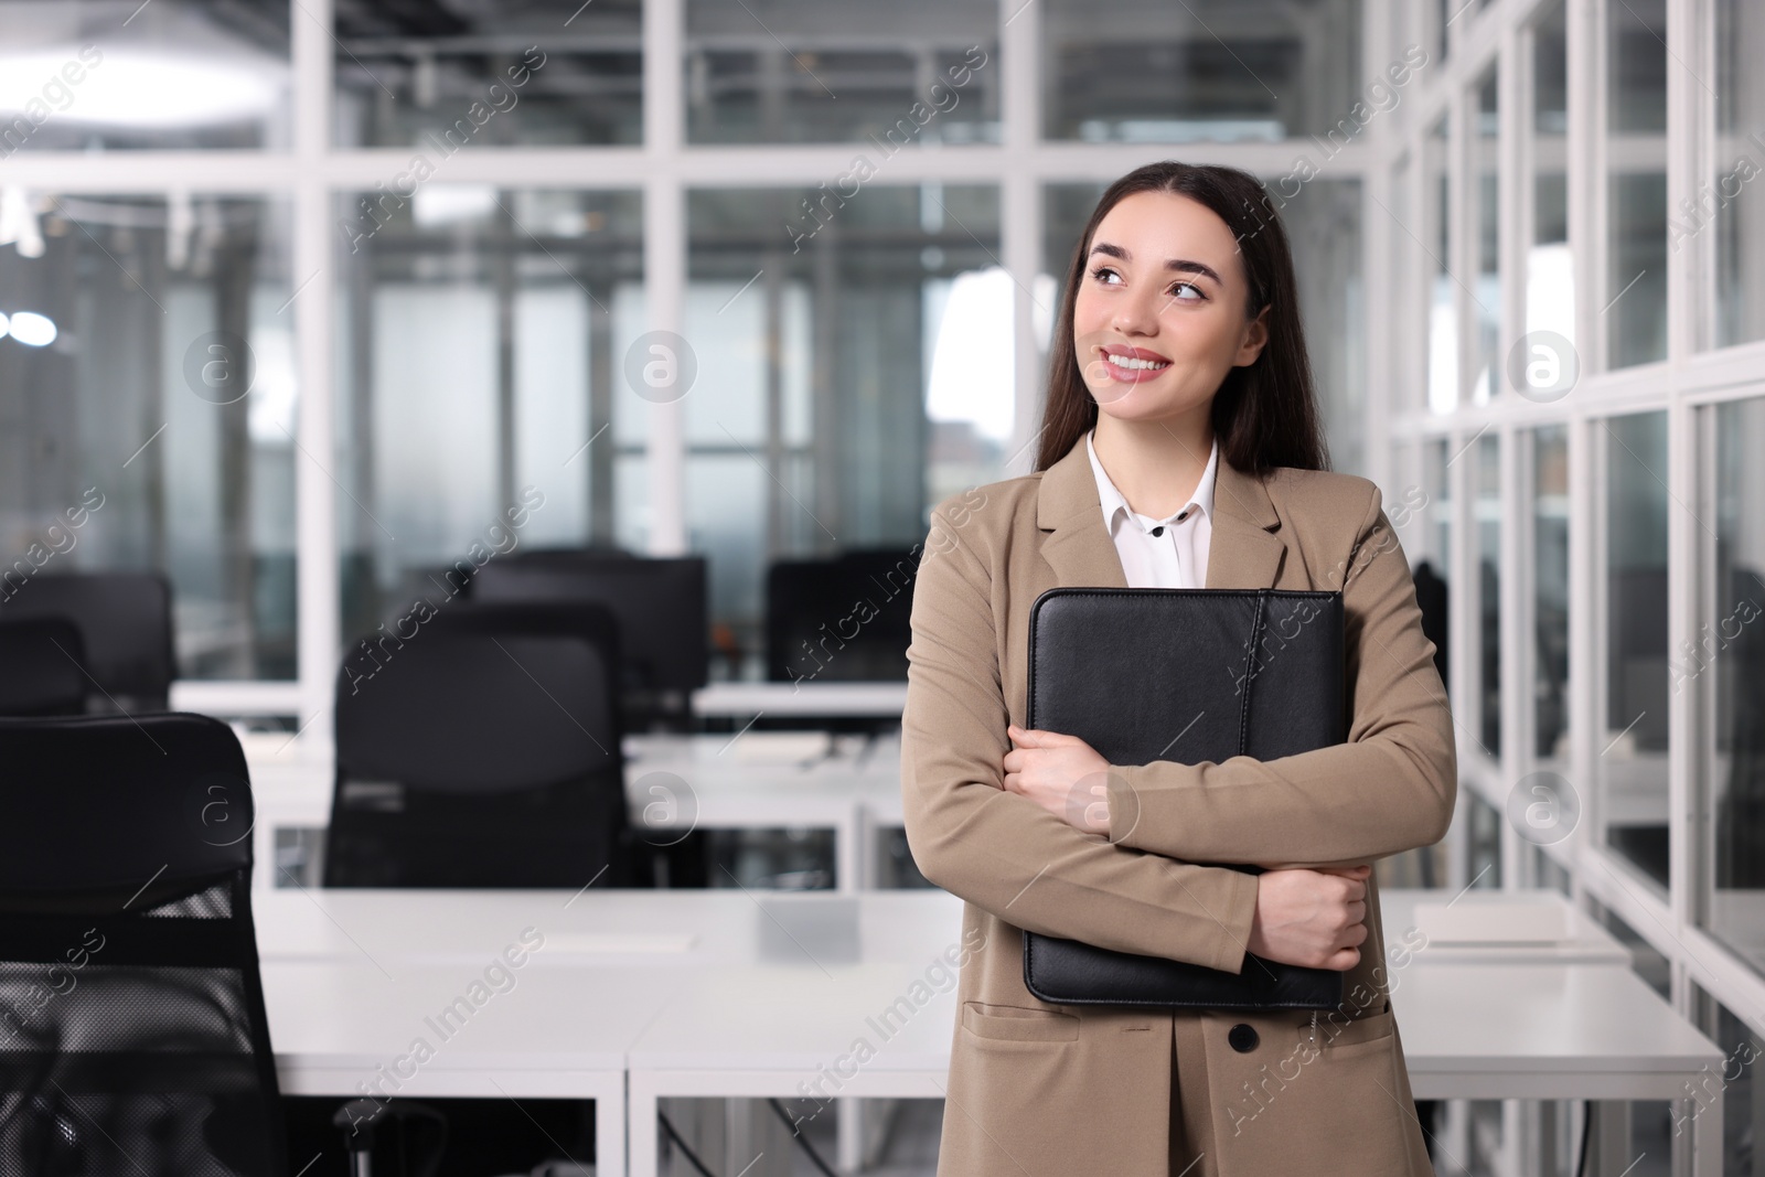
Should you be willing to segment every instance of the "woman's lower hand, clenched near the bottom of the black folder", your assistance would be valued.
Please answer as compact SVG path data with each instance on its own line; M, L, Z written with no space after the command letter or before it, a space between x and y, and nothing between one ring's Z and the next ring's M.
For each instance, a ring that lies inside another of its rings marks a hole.
M1361 963L1370 865L1266 870L1257 875L1250 951L1283 965L1336 969Z

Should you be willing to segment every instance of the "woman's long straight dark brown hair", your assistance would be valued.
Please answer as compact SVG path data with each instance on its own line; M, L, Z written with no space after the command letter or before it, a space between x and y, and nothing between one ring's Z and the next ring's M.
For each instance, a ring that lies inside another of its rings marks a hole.
M1232 229L1244 259L1244 277L1250 282L1246 318L1269 307L1269 341L1262 353L1255 364L1227 372L1213 399L1211 416L1221 461L1251 475L1276 466L1329 469L1329 446L1311 383L1306 334L1299 321L1299 284L1294 281L1294 258L1281 219L1262 182L1248 171L1181 164L1174 159L1135 168L1108 185L1073 247L1048 353L1048 395L1041 413L1036 469L1047 469L1066 457L1085 431L1096 425L1098 404L1078 371L1073 344L1073 305L1078 284L1085 279L1098 224L1133 192L1174 192L1214 210Z

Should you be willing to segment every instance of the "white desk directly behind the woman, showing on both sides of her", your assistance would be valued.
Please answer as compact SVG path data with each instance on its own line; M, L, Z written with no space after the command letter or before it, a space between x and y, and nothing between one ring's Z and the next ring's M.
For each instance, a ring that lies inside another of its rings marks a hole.
M664 1096L941 1098L955 995L934 992L909 1016L881 1020L923 976L886 965L695 978L630 1048L630 1177L658 1173ZM1419 1099L1675 1099L1723 1064L1710 1039L1610 963L1414 967L1393 1008ZM858 1039L874 1057L860 1055ZM1723 1172L1721 1099L1698 1108L1687 1147L1693 1173Z

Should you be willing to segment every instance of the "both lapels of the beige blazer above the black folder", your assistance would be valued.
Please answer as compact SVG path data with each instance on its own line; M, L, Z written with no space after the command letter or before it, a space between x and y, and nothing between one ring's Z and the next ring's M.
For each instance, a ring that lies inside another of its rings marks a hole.
M1269 491L1221 457L1214 475L1213 538L1207 542L1207 588L1274 588L1287 545L1273 535L1281 526ZM1041 558L1054 586L1128 588L1115 542L1103 528L1103 501L1084 436L1041 475L1036 526L1048 533Z

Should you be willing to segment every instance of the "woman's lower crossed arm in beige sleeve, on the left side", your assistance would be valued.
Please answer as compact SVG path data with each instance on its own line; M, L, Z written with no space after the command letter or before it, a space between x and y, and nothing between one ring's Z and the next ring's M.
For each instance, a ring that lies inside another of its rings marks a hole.
M1110 845L1006 792L994 586L939 505L920 558L902 713L907 843L927 879L1029 932L1237 972L1257 877Z

